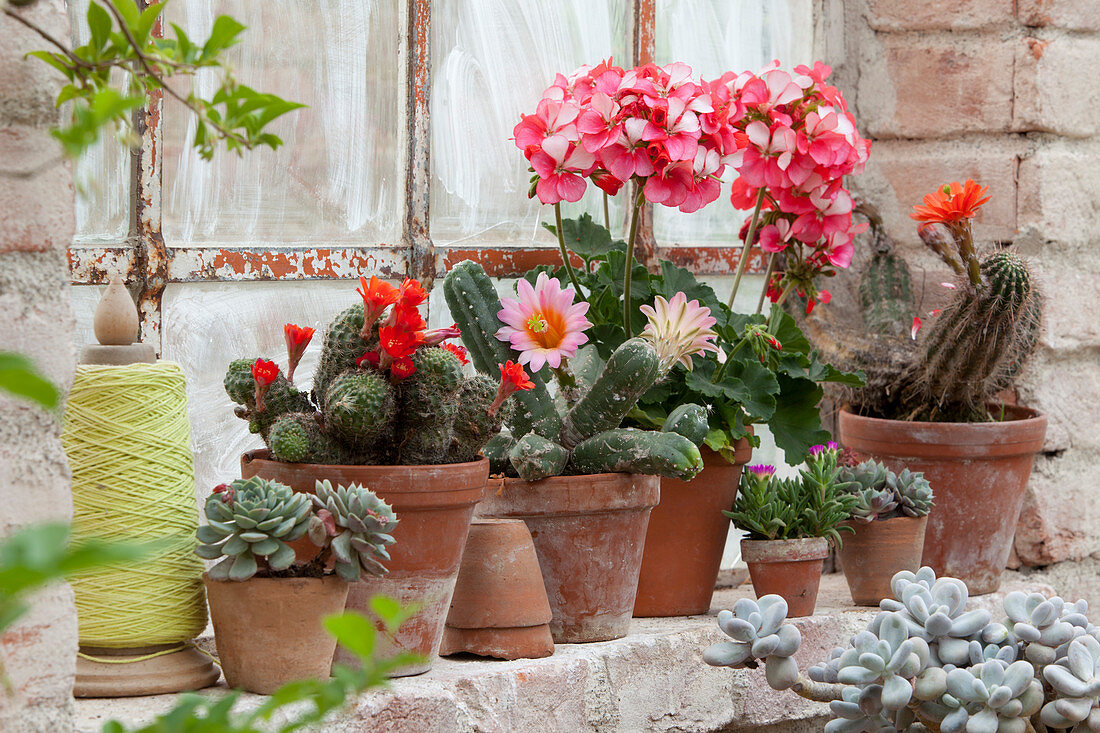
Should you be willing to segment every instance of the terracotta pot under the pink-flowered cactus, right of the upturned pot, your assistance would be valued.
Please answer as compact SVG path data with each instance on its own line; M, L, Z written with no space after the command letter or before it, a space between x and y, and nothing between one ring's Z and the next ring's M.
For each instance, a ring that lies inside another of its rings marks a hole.
M553 613L553 641L606 642L630 630L646 526L659 499L656 475L493 479L477 513L527 523Z

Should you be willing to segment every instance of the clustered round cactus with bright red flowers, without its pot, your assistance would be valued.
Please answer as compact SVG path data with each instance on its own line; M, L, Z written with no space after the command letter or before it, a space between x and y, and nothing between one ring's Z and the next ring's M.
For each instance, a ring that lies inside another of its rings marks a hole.
M360 282L363 302L338 314L324 331L310 392L272 362L260 360L274 370L262 389L252 370L256 360L230 364L224 386L239 405L237 415L263 437L272 458L286 462L477 460L510 414L502 405L490 414L502 390L510 387L492 372L464 373L465 350L448 342L459 330L427 329L419 313L427 294L419 283ZM312 329L288 324L286 331L289 375Z

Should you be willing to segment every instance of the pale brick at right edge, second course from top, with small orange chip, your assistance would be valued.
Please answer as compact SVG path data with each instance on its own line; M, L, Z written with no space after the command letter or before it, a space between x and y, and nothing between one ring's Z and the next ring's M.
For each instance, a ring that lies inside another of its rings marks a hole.
M1013 129L1072 138L1100 131L1094 100L1084 91L1080 77L1080 69L1091 68L1098 59L1100 39L1021 39L1015 51Z

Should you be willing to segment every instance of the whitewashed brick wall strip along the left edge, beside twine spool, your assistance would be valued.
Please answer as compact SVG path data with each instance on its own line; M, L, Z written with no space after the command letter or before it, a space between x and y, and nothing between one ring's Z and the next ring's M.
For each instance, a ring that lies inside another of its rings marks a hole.
M24 9L57 37L68 35L62 0ZM0 349L28 354L52 380L73 379L73 315L65 248L73 239L73 176L47 129L59 75L23 54L43 42L0 14ZM0 536L73 515L59 419L0 396ZM0 692L0 731L73 727L76 666L73 591L35 597L31 612L0 636L13 693Z

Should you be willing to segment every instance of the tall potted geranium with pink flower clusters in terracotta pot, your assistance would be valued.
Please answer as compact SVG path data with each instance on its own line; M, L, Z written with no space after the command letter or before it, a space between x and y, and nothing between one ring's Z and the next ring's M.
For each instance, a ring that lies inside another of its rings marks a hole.
M763 297L757 314L735 314L689 271L662 262L649 272L634 262L644 206L700 209L715 200L719 176L732 168L738 176L733 204L752 216L741 231L748 245L729 303L758 240L770 263L783 251L798 263L780 284L783 298L800 292L811 308L827 298L814 281L851 259L858 227L843 177L862 169L869 143L856 132L839 90L827 85L828 67L799 66L789 74L777 65L698 83L683 64L583 67L559 77L515 130L535 172L531 195L554 206L556 225L547 228L563 256L562 266L540 267L527 278L534 283L543 272L568 278L590 305L597 338L576 360L579 370L598 365L639 332L642 308L654 296L653 307L670 311L704 307L717 333L716 348L678 364L623 423L662 429L670 418L682 420L689 405L706 406L704 470L690 483L661 481L664 499L650 517L636 615L710 608L729 524L719 512L733 504L741 467L759 442L751 426L768 424L788 461L801 462L810 446L829 438L816 408L820 383L859 384L857 375L818 360L789 315L778 307L761 315ZM635 184L626 241L615 241L588 215L562 219L561 201L580 197L585 176L605 199ZM582 269L571 266L570 253Z

